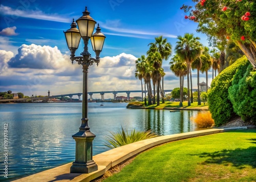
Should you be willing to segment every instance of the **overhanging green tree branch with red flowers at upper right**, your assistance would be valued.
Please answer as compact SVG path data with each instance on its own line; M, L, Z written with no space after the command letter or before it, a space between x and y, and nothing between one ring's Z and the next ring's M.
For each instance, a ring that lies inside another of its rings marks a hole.
M216 45L227 39L236 43L256 68L256 2L253 0L192 0L195 7L183 5L185 19L198 23L197 32Z

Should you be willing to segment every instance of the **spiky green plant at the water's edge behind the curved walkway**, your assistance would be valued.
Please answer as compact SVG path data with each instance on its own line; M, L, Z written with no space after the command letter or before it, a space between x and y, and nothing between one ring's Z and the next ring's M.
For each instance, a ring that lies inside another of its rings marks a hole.
M124 130L121 126L116 132L110 132L111 135L106 136L105 146L109 148L117 148L130 143L138 142L145 139L157 137L151 131L141 132L133 129L132 131Z

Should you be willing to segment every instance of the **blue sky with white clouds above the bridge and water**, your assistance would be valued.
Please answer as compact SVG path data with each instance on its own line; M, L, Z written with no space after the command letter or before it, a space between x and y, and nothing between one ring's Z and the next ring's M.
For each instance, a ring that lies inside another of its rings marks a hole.
M184 19L186 14L180 10L183 4L193 2L2 0L0 91L12 90L29 96L47 95L48 90L52 95L81 92L82 69L71 64L63 31L70 28L73 18L82 15L86 6L106 36L99 66L89 68L89 91L139 90L134 63L146 54L147 45L155 37L163 35L174 48L178 35L194 33L202 44L208 45L206 36L196 33L197 24ZM81 41L76 56L82 48ZM89 51L94 57L91 45ZM179 86L179 80L170 72L168 62L163 63L165 89L173 89ZM193 77L196 88L194 72ZM105 98L108 97L112 95Z

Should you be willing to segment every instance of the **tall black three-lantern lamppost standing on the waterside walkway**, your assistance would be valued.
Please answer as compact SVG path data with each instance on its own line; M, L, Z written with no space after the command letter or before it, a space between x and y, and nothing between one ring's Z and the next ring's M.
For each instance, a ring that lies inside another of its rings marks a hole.
M100 32L99 24L96 33L93 34L96 21L90 16L87 7L82 13L83 15L76 20L79 30L76 28L76 23L73 19L71 28L64 32L71 52L70 59L72 64L76 61L78 64L82 65L83 72L82 119L79 131L72 136L76 142L76 158L70 168L71 173L90 173L98 170L97 164L93 161L93 139L95 135L90 131L88 125L88 68L93 65L93 63L99 64L99 54L102 50L105 36ZM78 48L81 37L84 42L83 52L81 56L75 57L75 51ZM89 39L91 39L96 58L91 58L91 54L88 51Z

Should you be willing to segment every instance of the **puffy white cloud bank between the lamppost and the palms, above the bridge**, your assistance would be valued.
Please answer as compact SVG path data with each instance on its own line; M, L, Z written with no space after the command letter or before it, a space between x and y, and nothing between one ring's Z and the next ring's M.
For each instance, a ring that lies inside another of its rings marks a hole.
M89 69L89 91L139 90L140 81L134 76L136 60L125 53L101 58L98 67Z

